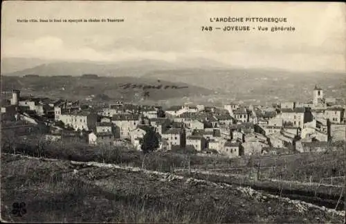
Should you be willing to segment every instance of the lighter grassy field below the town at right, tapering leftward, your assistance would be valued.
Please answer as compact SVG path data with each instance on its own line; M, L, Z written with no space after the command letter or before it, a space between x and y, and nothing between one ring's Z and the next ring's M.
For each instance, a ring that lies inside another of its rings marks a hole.
M297 153L282 156L252 156L233 158L217 165L194 165L192 168L218 171L222 174L241 174L252 176L260 170L260 179L276 179L300 182L331 183L344 185L340 176L345 176L345 151L327 153Z

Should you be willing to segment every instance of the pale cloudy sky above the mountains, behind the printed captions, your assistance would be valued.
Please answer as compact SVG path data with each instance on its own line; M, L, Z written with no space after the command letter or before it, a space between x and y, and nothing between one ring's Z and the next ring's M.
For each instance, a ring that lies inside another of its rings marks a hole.
M286 17L284 24L212 23L210 17ZM19 23L17 19L125 19ZM206 58L241 68L345 73L346 5L327 2L4 1L1 57L118 62ZM251 32L201 26L251 26ZM267 32L258 26L269 28ZM294 32L271 32L293 26Z

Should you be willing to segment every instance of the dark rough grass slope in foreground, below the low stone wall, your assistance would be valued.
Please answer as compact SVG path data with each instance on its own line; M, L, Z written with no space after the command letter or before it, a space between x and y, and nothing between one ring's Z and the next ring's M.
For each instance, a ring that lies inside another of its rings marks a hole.
M1 155L1 218L12 222L343 223L321 209L143 171ZM26 214L10 214L25 202Z

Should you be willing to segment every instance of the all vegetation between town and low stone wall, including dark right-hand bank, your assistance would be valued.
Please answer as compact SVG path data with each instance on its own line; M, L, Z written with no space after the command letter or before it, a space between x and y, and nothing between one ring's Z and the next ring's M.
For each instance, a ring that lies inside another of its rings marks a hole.
M199 156L188 151L180 153L155 151L143 154L125 145L90 147L82 140L49 142L39 136L28 136L25 141L16 139L15 142L8 142L3 145L2 151L80 162L106 162L142 167L152 171L179 173L183 176L212 180L217 183L250 186L276 195L289 197L307 195L312 200L298 198L317 205L337 207L339 210L345 207L345 189L340 188L345 185L345 178L342 177L345 174L343 159L345 151L229 159L217 155ZM196 170L208 171L208 174L190 173ZM224 174L230 176L224 176ZM271 181L273 179L276 181ZM292 181L298 181L298 183ZM340 187L323 186L321 185L323 183Z

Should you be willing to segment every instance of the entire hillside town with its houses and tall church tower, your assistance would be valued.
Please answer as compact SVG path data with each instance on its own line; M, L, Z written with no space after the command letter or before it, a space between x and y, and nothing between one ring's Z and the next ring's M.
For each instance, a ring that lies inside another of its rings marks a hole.
M123 145L141 150L145 133L158 133L158 150L248 155L323 151L345 140L345 102L311 89L311 102L271 106L230 102L224 107L185 103L145 106L127 102L70 102L21 95L1 102L1 129L21 129L16 138L44 127L44 139L78 139L89 145Z

